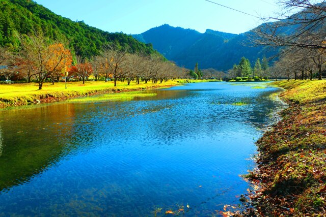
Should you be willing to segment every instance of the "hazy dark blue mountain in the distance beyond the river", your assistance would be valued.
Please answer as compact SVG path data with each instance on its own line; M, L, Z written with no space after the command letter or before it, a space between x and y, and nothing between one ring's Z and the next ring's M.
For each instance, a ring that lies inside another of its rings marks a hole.
M193 29L184 29L164 24L151 28L140 35L132 35L153 48L177 65L193 69L198 63L201 69L214 68L226 71L238 64L242 56L249 58L252 65L257 57L274 56L277 50L270 47L250 47L250 32L239 35L207 29L199 33Z

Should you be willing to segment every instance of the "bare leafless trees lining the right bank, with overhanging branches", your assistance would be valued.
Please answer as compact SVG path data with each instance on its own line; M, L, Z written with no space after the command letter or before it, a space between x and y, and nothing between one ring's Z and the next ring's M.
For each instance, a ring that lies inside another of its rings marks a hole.
M304 0L280 0L279 3L284 10L278 17L265 18L265 24L256 28L253 34L257 45L283 48L271 75L295 80L316 76L321 80L326 63L325 3ZM297 12L298 9L301 11ZM269 22L271 19L279 21Z

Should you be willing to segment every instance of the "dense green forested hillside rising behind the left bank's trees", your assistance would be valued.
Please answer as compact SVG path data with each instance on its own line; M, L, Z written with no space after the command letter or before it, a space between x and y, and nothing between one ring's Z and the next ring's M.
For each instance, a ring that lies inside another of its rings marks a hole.
M98 54L108 42L130 48L131 52L156 52L151 44L141 43L126 34L104 32L84 21L71 21L32 0L0 0L1 46L17 45L15 33L31 34L39 29L50 39L69 39L75 53L84 57Z

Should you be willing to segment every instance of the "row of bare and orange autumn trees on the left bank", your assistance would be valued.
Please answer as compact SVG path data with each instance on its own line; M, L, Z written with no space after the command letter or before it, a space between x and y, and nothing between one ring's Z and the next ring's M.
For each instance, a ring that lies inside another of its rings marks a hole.
M188 78L185 69L177 67L166 61L160 55L146 55L144 53L129 53L127 49L107 45L100 55L91 58L74 56L65 46L68 43L50 41L43 34L33 36L19 36L21 42L18 52L0 48L0 75L10 79L13 75L25 78L28 82L32 79L42 89L47 78L71 76L85 80L93 75L96 80L104 77L113 78L115 86L117 80L136 80L140 83L152 81L153 83L167 81L175 78Z

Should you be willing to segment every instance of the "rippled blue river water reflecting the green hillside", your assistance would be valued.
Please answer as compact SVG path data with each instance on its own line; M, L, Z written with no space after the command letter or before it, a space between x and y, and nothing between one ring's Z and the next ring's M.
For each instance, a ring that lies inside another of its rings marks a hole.
M154 216L181 203L185 216L212 216L239 204L249 188L239 174L283 106L268 97L279 89L251 85L1 111L0 216Z

